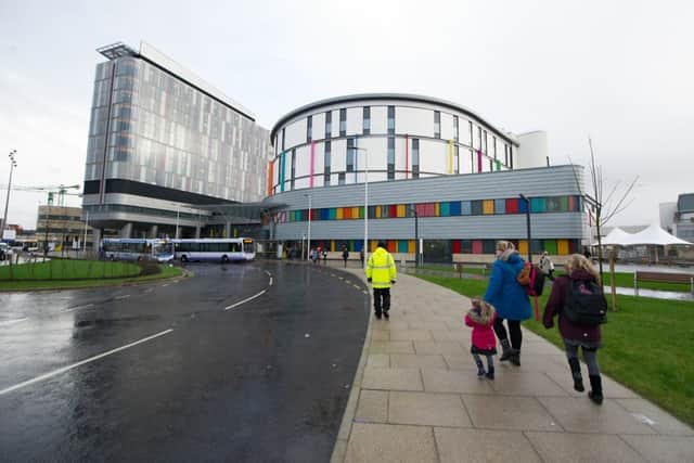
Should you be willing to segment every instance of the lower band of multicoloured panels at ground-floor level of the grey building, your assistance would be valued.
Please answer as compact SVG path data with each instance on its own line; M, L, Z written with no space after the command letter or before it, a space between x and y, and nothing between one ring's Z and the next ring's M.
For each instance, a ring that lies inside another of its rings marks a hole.
M386 242L389 253L415 253L414 240L369 240L370 250L376 249L380 241ZM511 240L515 244L520 255L527 255L527 240ZM349 252L360 252L363 248L363 240L311 240L310 247L320 247L332 252L339 252L345 248ZM531 240L530 245L532 253L541 253L547 250L552 256L567 256L569 254L579 253L579 240ZM494 254L497 248L497 240L425 240L423 253L426 254Z

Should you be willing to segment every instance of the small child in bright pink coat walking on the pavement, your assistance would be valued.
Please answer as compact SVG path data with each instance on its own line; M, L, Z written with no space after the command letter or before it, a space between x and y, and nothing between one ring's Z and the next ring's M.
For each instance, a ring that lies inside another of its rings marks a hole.
M477 364L477 377L489 380L494 378L494 361L492 356L497 355L497 338L492 326L497 312L494 308L481 299L472 299L473 307L465 316L465 324L473 327L473 340L470 352ZM479 356L487 357L487 372Z

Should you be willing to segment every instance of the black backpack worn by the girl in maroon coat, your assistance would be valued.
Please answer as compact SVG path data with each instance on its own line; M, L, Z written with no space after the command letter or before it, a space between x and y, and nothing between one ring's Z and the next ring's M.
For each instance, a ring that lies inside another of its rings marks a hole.
M602 286L594 281L571 280L566 291L564 314L577 325L607 322L607 301Z

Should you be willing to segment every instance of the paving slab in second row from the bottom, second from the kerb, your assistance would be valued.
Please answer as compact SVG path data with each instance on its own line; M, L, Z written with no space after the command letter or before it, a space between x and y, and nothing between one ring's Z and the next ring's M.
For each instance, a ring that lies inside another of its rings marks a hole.
M388 422L470 427L463 401L454 394L389 393Z

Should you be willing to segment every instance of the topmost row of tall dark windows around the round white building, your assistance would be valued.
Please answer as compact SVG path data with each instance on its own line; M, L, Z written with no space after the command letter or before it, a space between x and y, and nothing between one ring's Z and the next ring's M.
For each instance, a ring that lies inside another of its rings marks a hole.
M388 106L387 110L387 133L389 136L395 134L395 106ZM497 152L497 137L491 137L491 143L489 143L489 133L487 130L483 129L480 126L477 126L477 137L475 136L475 130L472 121L467 121L471 147L478 150L494 159L500 159L500 154ZM285 151L285 130L282 129L282 146L281 151ZM333 130L333 113L332 111L325 112L325 140L331 139L331 133ZM371 134L371 106L362 107L362 134ZM343 107L339 110L339 137L347 136L347 108ZM434 138L441 138L441 112L434 111ZM306 142L310 143L313 140L313 116L307 117L306 124ZM460 121L458 116L453 116L453 141L460 141ZM491 145L490 145L491 144ZM503 144L504 153L503 159L506 166L510 166L513 169L513 156L511 156L510 147L506 143ZM275 143L275 155L278 155L278 144Z

